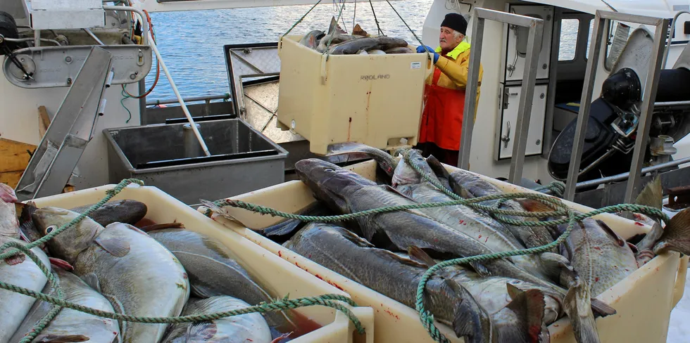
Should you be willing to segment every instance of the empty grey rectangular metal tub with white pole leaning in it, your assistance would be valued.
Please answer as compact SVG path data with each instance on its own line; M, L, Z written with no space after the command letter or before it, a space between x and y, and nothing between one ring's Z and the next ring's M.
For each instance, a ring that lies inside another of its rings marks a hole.
M184 124L104 129L111 183L135 178L187 205L284 182L287 151L241 119L196 123L211 156Z

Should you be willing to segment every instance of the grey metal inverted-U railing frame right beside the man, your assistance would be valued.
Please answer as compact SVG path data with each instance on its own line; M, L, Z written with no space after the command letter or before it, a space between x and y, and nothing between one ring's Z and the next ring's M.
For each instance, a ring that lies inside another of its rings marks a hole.
M537 82L537 66L539 65L539 53L541 49L541 37L544 20L532 18L527 15L517 15L487 8L476 8L472 18L472 48L470 49L470 70L468 71L468 86L463 112L463 130L460 133L460 158L458 167L469 169L470 144L472 143L472 129L474 127L475 111L477 108L477 82L479 81L479 62L482 54L482 41L484 38L484 20L494 20L508 25L528 27L527 56L525 58L525 70L523 71L522 87L520 89L520 103L517 112L517 130L515 132L516 143L513 145L513 158L510 161L510 176L508 181L517 183L522 179L522 165L525 163L525 150L527 148L527 131L529 129L529 117L532 115L532 99L534 98L534 84Z

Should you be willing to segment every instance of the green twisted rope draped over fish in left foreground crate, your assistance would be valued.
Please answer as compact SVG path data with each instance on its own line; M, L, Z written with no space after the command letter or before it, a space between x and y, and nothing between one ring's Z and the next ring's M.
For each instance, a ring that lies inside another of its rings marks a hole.
M337 302L333 302L332 300L337 300L340 302L345 302L346 304L349 304L350 306L357 306L355 302L353 302L352 299L349 299L348 297L344 297L343 295L320 295L318 297L302 297L302 298L297 298L297 299L287 299L287 297L277 300L275 302L270 302L270 303L265 303L262 302L261 304L258 304L256 306L250 306L246 307L244 309L235 309L232 311L224 311L224 312L216 312L216 313L202 313L199 315L194 315L194 316L177 316L177 317L144 317L144 316L129 316L125 314L120 314L120 313L112 313L112 312L107 312L107 311L101 311L99 309L92 309L87 306L82 306L80 304L74 304L72 302L67 302L63 298L64 294L63 291L61 290L61 287L59 285L58 280L54 277L54 274L51 273L49 268L45 266L43 261L39 259L39 257L36 256L30 249L33 247L37 247L38 245L43 244L44 242L47 242L51 240L51 238L54 238L56 235L59 233L67 230L68 228L71 228L78 224L82 219L84 219L86 216L94 212L96 209L99 209L101 206L103 206L108 200L111 200L115 195L120 193L127 185L130 183L137 183L139 186L143 186L144 183L140 180L137 179L125 179L118 183L117 186L115 186L112 190L107 190L106 191L106 198L103 198L101 201L97 202L95 205L92 207L89 207L87 211L83 212L79 216L77 216L75 219L70 221L68 224L65 224L64 226L61 226L60 228L52 231L48 235L45 235L43 238L40 238L39 240L35 240L34 242L30 242L27 245L23 245L20 242L6 242L4 245L0 246L0 251L4 252L0 254L0 260L7 259L8 257L12 257L18 252L24 252L28 257L32 259L32 261L37 264L37 266L41 269L41 271L47 276L49 282L51 285L54 287L54 290L56 290L57 297L53 297L51 295L46 295L42 292L35 292L34 290L29 290L25 287L20 287L18 285L12 285L10 283L4 283L0 281L0 288L4 290L10 290L12 292L17 292L23 295L27 295L29 297L33 297L35 299L41 299L44 302L49 302L51 304L56 305L49 313L46 313L46 316L37 323L30 332L27 332L27 334L23 337L23 339L20 341L21 343L29 343L33 339L37 337L45 328L48 326L48 324L55 318L55 316L61 311L63 307L67 307L68 309L74 309L76 311L81 311L84 313L89 313L94 316L101 316L103 318L111 318L117 321L130 321L130 322L136 322L136 323L192 323L192 322L197 322L197 321L211 321L215 319L220 319L220 318L225 318L229 316L239 316L242 314L246 313L265 313L268 311L284 311L287 309L296 309L299 307L303 306L314 306L314 305L322 305L322 306L328 306L332 307L334 309L337 309L348 316L350 321L353 322L353 325L355 326L356 330L360 334L365 333L365 329L362 326L362 323L359 321L359 319L350 311L347 309L345 306L338 304ZM8 250L11 249L11 250ZM8 251L6 251L8 250Z

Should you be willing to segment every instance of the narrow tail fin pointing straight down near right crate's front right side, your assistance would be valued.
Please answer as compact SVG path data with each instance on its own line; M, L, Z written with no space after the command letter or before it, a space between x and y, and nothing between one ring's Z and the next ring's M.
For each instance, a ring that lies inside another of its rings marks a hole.
M589 287L579 279L563 299L563 309L572 325L575 340L579 343L599 342L590 299Z

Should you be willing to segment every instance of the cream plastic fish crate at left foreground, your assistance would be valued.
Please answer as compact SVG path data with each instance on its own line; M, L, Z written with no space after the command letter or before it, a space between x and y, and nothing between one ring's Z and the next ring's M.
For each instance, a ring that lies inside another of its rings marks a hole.
M86 190L53 195L51 197L32 200L37 207L54 206L65 209L94 204L106 196L106 190L115 185L105 185ZM137 200L148 207L147 219L158 224L179 222L184 228L208 235L228 247L242 258L242 265L256 276L260 285L275 292L273 297L284 297L289 294L290 299L298 297L315 297L325 294L339 294L350 297L343 290L337 289L319 280L310 273L284 261L275 254L253 244L235 230L228 230L224 226L196 212L192 207L184 205L162 190L152 186L130 185L118 193L113 200ZM344 304L344 303L341 303ZM253 304L251 304L253 305ZM294 343L372 343L374 337L373 310L370 307L348 307L364 326L365 337L358 335L356 328L349 318L336 309L326 306L305 306L291 311L304 316L321 327L292 339ZM137 313L129 313L136 315Z

